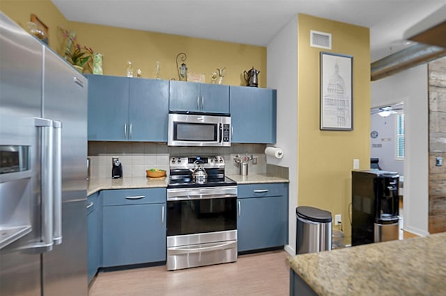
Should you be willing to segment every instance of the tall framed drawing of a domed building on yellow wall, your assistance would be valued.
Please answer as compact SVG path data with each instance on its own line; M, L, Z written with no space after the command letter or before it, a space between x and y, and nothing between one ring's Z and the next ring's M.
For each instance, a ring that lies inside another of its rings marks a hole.
M353 131L353 56L321 51L320 129Z

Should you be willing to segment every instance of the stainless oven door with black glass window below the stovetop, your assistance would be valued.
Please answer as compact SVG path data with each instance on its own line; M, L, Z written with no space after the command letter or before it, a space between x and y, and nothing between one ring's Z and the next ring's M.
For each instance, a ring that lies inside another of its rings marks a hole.
M236 229L237 186L167 190L168 240L173 236Z

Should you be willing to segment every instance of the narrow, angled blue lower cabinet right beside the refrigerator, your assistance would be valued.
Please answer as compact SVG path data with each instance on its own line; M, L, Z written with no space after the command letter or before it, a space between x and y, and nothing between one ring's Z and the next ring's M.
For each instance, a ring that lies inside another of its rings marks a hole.
M100 203L99 192L87 200L87 262L89 283L100 267Z

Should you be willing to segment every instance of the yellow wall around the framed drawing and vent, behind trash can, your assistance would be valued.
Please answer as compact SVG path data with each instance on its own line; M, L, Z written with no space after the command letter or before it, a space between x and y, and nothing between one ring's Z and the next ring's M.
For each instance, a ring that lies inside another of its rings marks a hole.
M310 30L332 33L332 50L310 47ZM299 15L298 40L298 205L341 214L349 242L353 158L369 168L369 28ZM353 56L353 131L319 129L320 51Z

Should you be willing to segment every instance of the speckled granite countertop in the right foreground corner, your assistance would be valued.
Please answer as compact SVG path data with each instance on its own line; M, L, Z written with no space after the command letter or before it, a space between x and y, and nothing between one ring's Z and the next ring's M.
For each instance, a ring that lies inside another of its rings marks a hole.
M446 295L446 233L290 256L318 295Z

